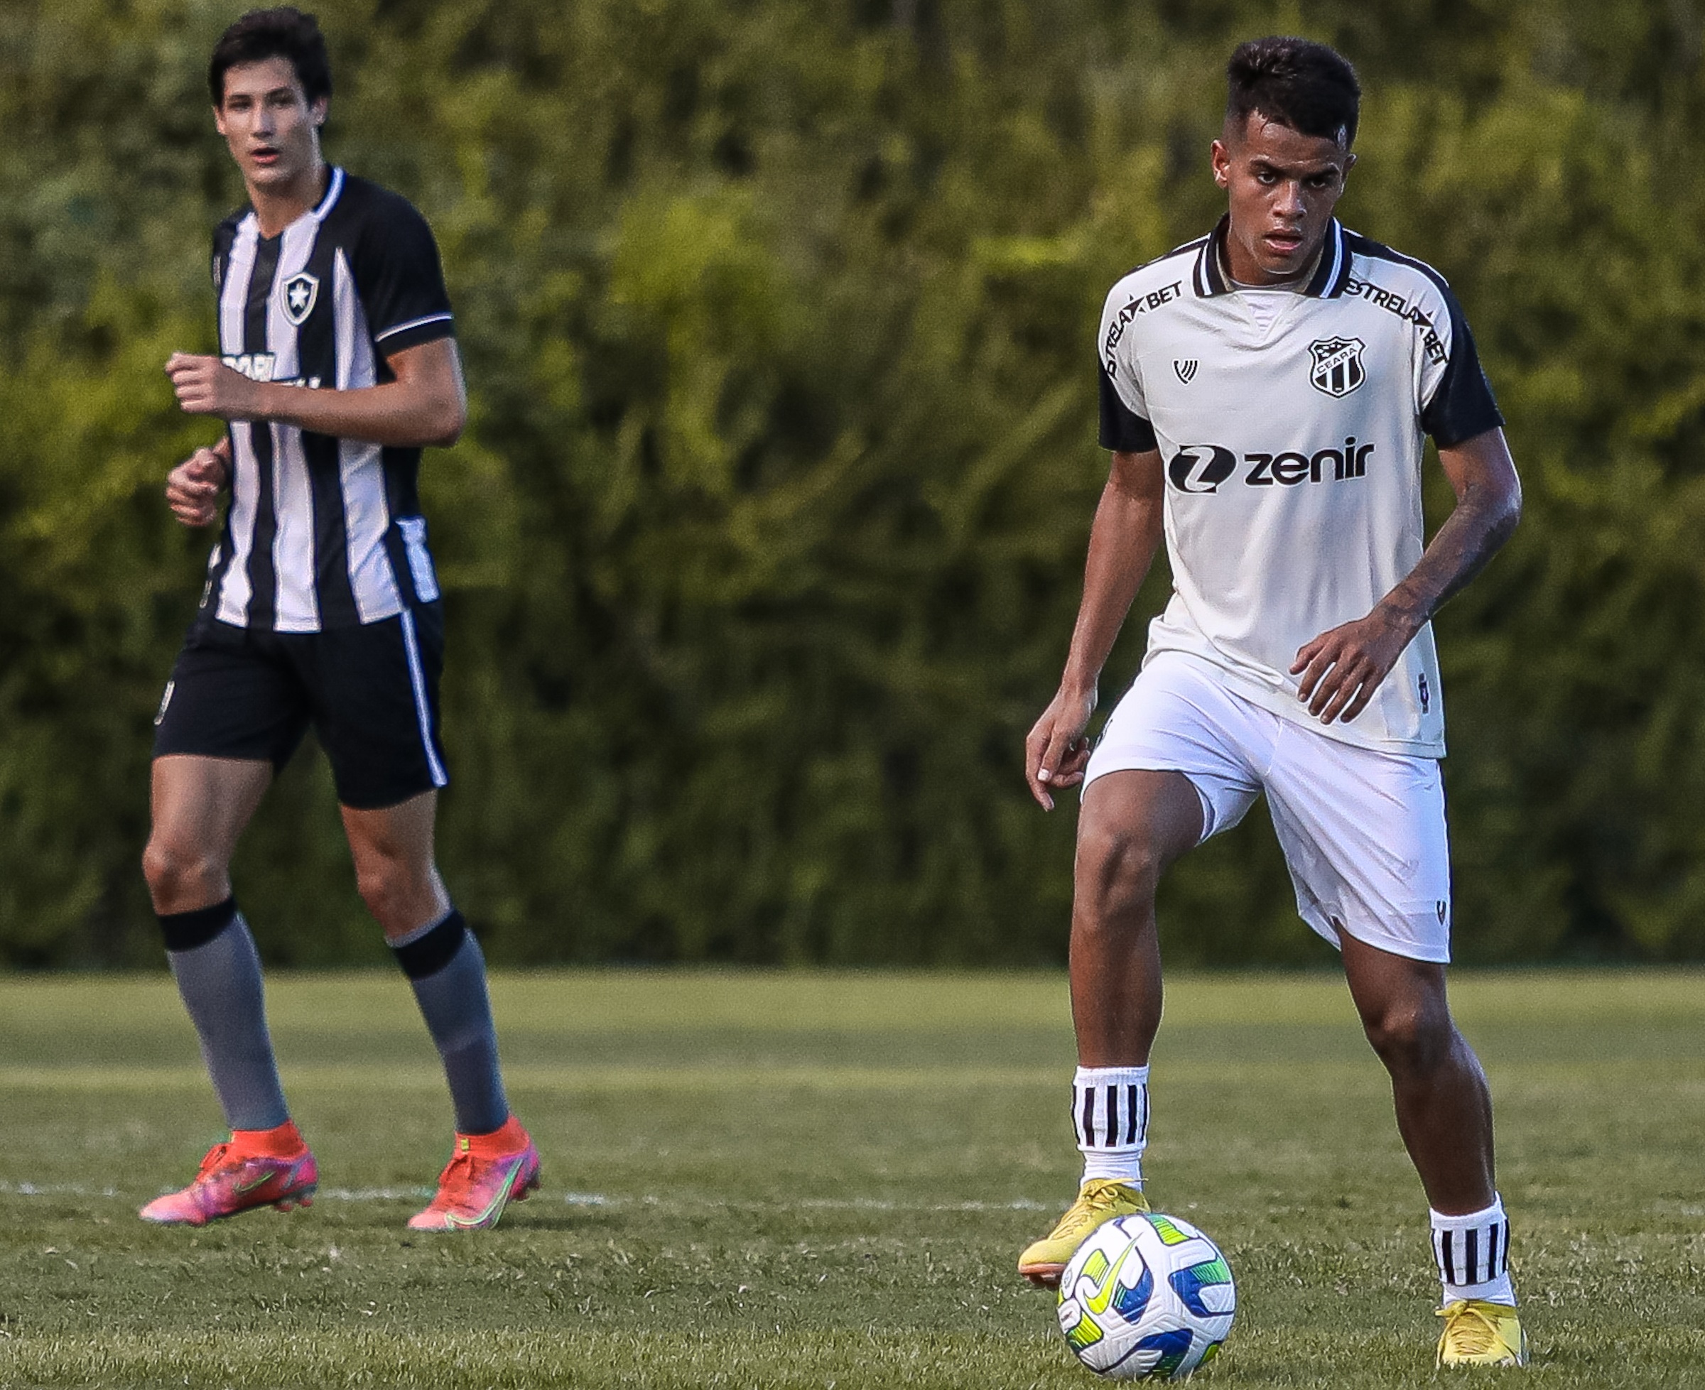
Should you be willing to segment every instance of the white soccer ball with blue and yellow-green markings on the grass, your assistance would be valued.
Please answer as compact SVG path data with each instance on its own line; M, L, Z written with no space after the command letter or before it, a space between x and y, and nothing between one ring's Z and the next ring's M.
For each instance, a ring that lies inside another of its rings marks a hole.
M1219 1247L1159 1213L1107 1221L1061 1274L1061 1330L1108 1380L1183 1380L1219 1351L1236 1306Z

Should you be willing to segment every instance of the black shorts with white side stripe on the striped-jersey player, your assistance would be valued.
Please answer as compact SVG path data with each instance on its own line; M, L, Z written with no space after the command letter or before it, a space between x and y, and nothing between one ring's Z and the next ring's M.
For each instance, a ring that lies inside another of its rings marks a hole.
M322 633L201 619L165 686L153 756L264 759L280 769L312 725L338 800L353 810L394 807L448 781L442 670L442 604Z

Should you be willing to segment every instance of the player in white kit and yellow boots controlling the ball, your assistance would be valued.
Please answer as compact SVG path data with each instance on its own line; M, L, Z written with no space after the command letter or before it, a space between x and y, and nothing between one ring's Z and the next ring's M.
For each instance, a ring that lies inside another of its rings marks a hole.
M1492 1102L1451 1022L1449 848L1429 621L1516 527L1521 486L1444 280L1344 229L1361 89L1316 43L1233 55L1214 142L1229 211L1113 287L1101 319L1112 474L1032 793L1083 785L1071 930L1084 1155L1078 1201L1020 1257L1037 1283L1144 1211L1161 1018L1154 889L1267 795L1298 911L1344 957L1391 1074L1444 1288L1441 1364L1523 1364ZM1424 544L1424 435L1456 507ZM1093 752L1096 682L1166 539L1173 595Z

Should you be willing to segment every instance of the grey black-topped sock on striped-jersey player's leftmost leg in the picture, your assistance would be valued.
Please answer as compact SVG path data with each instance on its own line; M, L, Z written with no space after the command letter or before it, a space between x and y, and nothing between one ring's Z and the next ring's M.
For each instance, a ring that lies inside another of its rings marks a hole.
M196 1025L201 1056L232 1129L273 1129L290 1119L266 1032L261 955L230 899L160 918L165 959Z

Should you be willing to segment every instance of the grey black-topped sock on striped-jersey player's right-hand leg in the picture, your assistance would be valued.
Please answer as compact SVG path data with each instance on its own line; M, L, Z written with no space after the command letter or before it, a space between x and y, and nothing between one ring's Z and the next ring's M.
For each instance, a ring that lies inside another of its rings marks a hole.
M498 1028L486 993L486 957L454 907L442 921L392 943L455 1103L457 1134L489 1134L510 1117L498 1068Z

